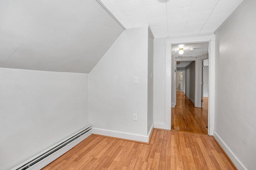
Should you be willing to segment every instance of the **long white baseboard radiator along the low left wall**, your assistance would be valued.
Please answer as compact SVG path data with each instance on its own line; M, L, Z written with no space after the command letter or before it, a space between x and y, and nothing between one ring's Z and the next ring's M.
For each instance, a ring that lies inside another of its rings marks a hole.
M85 138L92 134L92 127L87 126L54 146L44 150L40 154L30 158L29 160L19 164L11 170L32 170L41 169L62 154L76 146L76 144L82 142Z

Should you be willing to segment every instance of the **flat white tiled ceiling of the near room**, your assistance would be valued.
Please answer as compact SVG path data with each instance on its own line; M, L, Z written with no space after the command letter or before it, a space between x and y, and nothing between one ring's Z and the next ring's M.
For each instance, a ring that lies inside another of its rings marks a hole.
M126 29L154 38L214 33L243 0L100 0Z

